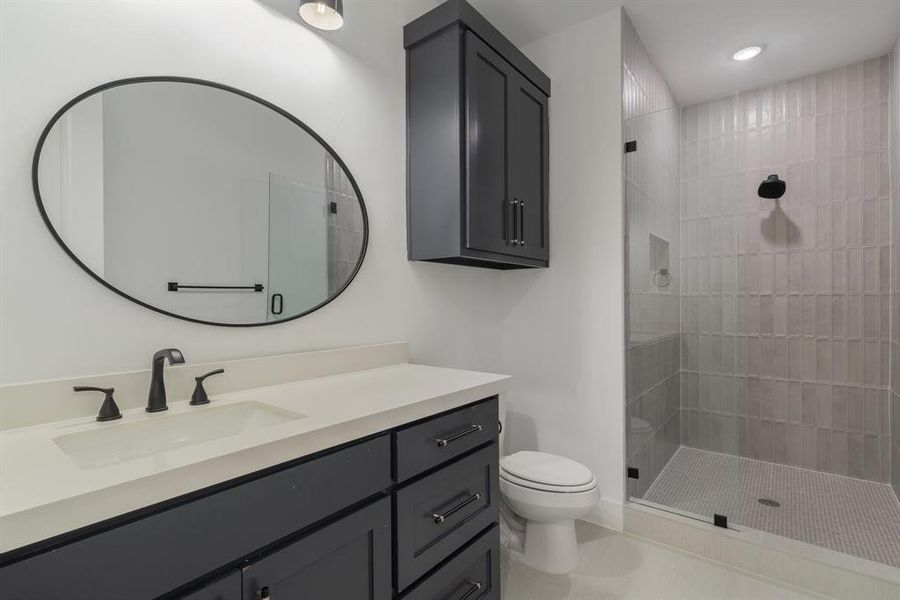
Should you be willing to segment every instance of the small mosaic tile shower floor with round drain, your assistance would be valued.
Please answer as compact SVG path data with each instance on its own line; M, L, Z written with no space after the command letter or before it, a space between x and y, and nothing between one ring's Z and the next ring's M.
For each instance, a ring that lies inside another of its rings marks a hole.
M644 500L900 567L900 502L883 483L682 447Z

